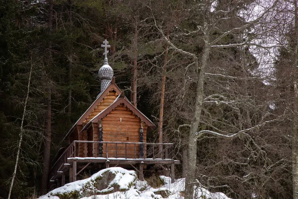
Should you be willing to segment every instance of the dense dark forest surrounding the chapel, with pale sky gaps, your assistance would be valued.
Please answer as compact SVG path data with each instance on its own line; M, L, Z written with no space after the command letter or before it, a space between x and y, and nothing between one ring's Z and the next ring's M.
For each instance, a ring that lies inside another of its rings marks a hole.
M2 0L0 198L13 180L11 198L47 191L43 174L100 93L107 39L117 85L158 126L148 140L174 143L186 197L200 185L233 199L297 199L297 7Z

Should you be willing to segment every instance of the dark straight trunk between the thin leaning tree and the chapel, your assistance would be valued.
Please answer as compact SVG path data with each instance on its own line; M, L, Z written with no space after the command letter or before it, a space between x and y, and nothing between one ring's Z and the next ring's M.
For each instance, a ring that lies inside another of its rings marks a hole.
M51 117L52 117L52 99L51 99L51 87L49 87L48 99L47 99L47 117L46 117L46 131L45 131L45 145L43 153L43 175L41 182L41 193L45 194L48 188L49 171L50 171L50 154L51 154Z

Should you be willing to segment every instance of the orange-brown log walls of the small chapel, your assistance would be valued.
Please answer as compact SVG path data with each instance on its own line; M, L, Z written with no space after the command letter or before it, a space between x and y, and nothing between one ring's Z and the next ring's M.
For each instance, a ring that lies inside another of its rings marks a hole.
M92 118L94 118L98 113L103 111L109 105L111 105L118 94L112 89L103 100L96 106L96 108L87 116L87 118L83 121L83 125L88 123ZM121 122L120 122L121 118ZM133 111L129 110L124 105L119 105L114 110L112 110L107 116L102 119L103 125L103 141L110 142L139 142L139 129L141 126L141 119L138 118ZM92 123L92 127L90 127L93 131L92 141L99 141L98 138L98 124ZM79 133L78 140L90 140L90 135L88 136L88 132L90 130L84 130ZM147 125L144 127L144 142L146 142L147 137ZM80 143L78 145L78 154L79 157L98 157L98 144L88 144L87 147L84 143ZM90 151L91 150L91 151ZM89 153L88 153L89 151ZM90 153L91 152L91 153ZM144 153L146 156L146 148L144 148ZM88 155L89 154L89 155ZM90 155L91 154L91 155ZM139 157L139 145L136 145L136 149L134 144L127 144L127 158L135 158ZM109 144L108 145L108 156L116 157L116 145ZM103 146L103 154L102 157L106 157L106 146ZM125 158L125 145L117 144L117 157Z

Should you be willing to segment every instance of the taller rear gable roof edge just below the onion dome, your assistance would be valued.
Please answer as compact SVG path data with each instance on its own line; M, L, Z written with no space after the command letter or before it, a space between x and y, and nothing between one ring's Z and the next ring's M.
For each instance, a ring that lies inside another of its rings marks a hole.
M110 90L114 90L118 95L121 94L121 90L119 89L119 87L115 84L115 78L112 79L112 81L110 82L110 84L105 88L105 90L100 93L96 100L89 106L89 108L84 112L84 114L82 114L82 116L75 122L75 124L73 125L73 127L70 129L70 131L67 133L67 135L64 137L63 140L65 140L74 130L76 125L81 125L83 124L83 121L88 117L88 115L96 108L96 106L101 102L101 100L103 100L108 93L110 92Z

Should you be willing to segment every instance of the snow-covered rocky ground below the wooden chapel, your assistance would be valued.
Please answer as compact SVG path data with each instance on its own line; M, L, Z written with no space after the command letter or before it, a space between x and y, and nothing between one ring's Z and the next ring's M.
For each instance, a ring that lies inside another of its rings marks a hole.
M159 177L164 185L154 189L146 181L139 181L135 171L121 167L103 169L90 178L66 184L39 199L184 199L185 179ZM163 197L162 197L163 196ZM196 188L194 199L229 199L223 193L210 193Z

